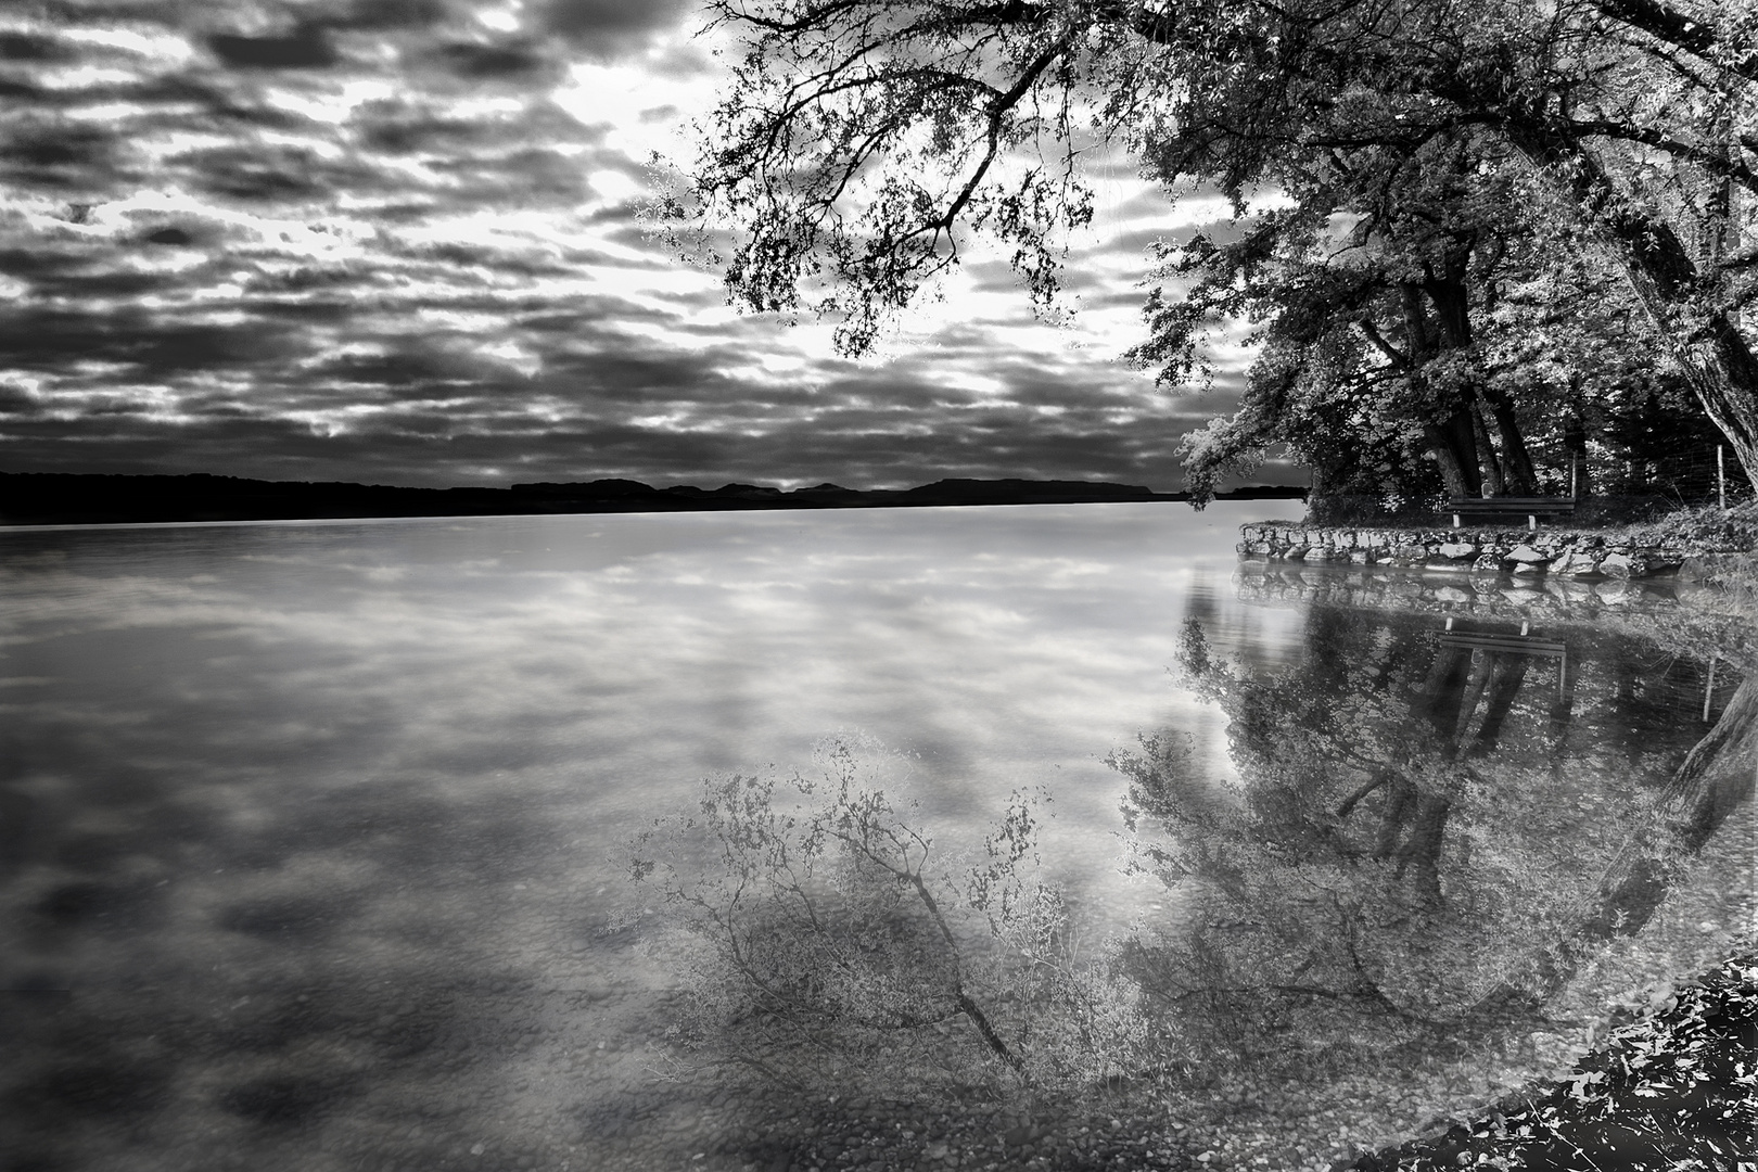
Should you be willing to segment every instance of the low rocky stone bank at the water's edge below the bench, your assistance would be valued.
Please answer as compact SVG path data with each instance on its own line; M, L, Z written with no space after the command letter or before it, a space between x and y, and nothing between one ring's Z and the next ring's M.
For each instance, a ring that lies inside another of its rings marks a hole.
M1628 580L1675 575L1693 582L1751 575L1747 550L1709 541L1644 541L1595 529L1392 529L1252 522L1241 557L1273 562L1392 566L1515 578Z

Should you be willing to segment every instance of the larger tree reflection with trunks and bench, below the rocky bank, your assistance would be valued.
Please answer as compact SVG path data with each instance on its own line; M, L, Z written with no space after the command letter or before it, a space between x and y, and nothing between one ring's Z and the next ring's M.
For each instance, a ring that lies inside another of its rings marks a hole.
M1707 662L1554 626L1313 606L1294 661L1253 669L1188 619L1180 666L1238 777L1211 784L1176 731L1113 756L1139 865L1190 898L1127 949L1150 1002L1262 1075L1556 1024L1593 947L1749 794L1758 689L1719 662L1705 734ZM1672 719L1633 742L1635 706Z

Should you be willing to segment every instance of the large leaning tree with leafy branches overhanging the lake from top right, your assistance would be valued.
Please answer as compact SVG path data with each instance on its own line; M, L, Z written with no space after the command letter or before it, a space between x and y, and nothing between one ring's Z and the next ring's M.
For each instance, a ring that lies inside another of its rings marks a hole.
M1357 179L1366 162L1369 177L1408 183L1398 160L1466 148L1489 165L1463 172L1464 188L1477 177L1507 183L1515 169L1538 235L1561 241L1558 251L1586 244L1630 283L1758 485L1758 360L1742 325L1758 250L1740 235L1742 197L1758 195L1751 0L714 0L708 9L745 54L694 197L740 230L726 279L749 307L828 313L839 343L861 351L958 262L974 230L1013 248L1035 299L1053 297L1058 234L1092 216L1079 160L1095 134L1125 144L1174 199L1192 181L1213 184L1243 216L1255 195L1292 197L1287 216L1311 241L1340 214L1371 214L1340 199L1361 193L1355 181L1336 183L1350 167ZM1420 244L1408 232L1385 239L1398 250ZM1435 237L1433 272L1417 265L1403 283L1385 274L1413 302L1405 344L1378 329L1382 346L1362 330L1378 322L1361 302L1331 307L1362 334L1364 362L1378 353L1394 364L1396 351L1429 388L1429 415L1415 423L1438 429L1426 443L1443 471L1443 453L1461 464L1454 488L1471 487L1457 453L1494 446L1491 429L1501 439L1498 474L1522 476L1494 381L1471 369L1466 334L1449 332L1470 325L1459 315L1471 311L1470 264L1486 241L1454 241L1449 262ZM1183 343L1157 334L1150 348L1164 346L1178 371ZM1435 357L1450 371L1438 388L1424 371ZM1473 406L1478 422L1487 408L1482 434L1468 418Z

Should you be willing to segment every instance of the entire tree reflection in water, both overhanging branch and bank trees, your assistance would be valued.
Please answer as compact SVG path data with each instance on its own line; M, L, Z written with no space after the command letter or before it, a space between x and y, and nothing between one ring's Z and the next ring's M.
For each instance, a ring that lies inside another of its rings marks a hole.
M941 868L847 756L835 778L795 778L819 807L781 810L749 778L708 791L677 829L714 840L694 857L719 872L663 849L636 870L668 875L673 921L710 944L693 972L714 1044L795 1086L802 1063L872 1082L884 1058L925 1086L983 1079L986 1060L992 1088L1151 1075L1188 1107L1204 1086L1229 1103L1296 1086L1290 1126L1320 1102L1387 1123L1359 1075L1435 1107L1447 1095L1410 1088L1602 1012L1561 995L1749 796L1744 619L1684 619L1327 603L1271 657L1222 654L1199 597L1180 673L1225 715L1232 777L1180 729L1109 757L1130 866L1178 898L1104 949L1076 954L1074 908L1025 870L1027 807L988 840L988 872ZM1431 1114L1410 1111L1387 1126Z

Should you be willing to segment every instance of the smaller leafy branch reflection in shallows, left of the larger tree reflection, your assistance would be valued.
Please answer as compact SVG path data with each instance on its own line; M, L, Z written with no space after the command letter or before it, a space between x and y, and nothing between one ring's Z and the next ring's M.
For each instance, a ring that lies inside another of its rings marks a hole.
M868 1079L1076 1084L1150 1058L1134 986L1106 949L1081 954L1035 877L1044 798L1016 791L960 859L888 796L900 764L833 740L809 773L703 782L694 814L633 843L686 982L677 1040L784 1082L861 1063Z

